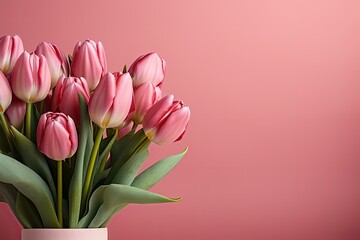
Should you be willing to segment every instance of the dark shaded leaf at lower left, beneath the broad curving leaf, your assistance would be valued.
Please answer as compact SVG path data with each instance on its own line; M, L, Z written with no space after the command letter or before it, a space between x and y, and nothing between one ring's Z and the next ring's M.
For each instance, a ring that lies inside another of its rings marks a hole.
M18 192L19 191L13 187L13 185L0 182L0 202L7 203L20 224L24 228L29 228L31 226L26 222L23 222L21 216L16 211L16 196Z

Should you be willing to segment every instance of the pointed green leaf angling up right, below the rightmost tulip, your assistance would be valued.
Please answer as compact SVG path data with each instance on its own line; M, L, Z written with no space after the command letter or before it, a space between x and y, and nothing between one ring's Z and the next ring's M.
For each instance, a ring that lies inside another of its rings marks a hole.
M162 159L143 171L137 176L131 186L141 189L150 189L163 179L184 157L188 148L178 155L173 155Z

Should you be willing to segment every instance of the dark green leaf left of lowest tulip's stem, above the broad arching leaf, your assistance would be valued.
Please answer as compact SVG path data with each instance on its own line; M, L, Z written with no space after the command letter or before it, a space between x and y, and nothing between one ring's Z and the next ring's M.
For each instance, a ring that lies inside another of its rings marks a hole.
M55 198L55 184L46 158L39 151L36 145L23 134L21 134L16 128L11 126L11 130L14 133L16 148L21 156L22 162L47 181L51 193Z

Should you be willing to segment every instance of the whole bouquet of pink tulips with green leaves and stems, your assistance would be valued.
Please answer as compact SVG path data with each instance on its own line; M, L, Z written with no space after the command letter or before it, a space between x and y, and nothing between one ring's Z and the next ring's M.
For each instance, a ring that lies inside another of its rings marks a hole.
M186 153L140 172L149 145L182 138L190 110L162 97L165 61L108 72L103 45L24 51L0 38L0 201L24 228L100 228L127 204L176 202L148 190Z

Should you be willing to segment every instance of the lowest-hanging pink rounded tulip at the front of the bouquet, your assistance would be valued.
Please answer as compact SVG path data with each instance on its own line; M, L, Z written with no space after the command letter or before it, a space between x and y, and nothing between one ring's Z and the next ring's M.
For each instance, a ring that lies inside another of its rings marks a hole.
M78 147L78 135L71 117L63 113L41 115L36 132L39 150L54 160L72 157Z

